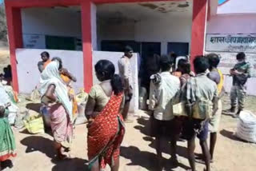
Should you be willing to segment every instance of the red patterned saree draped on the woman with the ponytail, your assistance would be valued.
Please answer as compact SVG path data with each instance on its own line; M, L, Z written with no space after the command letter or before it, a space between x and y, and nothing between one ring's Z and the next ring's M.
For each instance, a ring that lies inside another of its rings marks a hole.
M88 126L89 168L98 159L100 168L105 169L106 164L114 165L119 157L125 133L122 115L119 113L121 102L122 93L112 94L105 108Z

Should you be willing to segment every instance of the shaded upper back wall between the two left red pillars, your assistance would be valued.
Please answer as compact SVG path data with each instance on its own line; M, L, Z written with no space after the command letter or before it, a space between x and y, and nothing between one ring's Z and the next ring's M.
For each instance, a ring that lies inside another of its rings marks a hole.
M22 9L22 34L81 38L81 14L64 7Z

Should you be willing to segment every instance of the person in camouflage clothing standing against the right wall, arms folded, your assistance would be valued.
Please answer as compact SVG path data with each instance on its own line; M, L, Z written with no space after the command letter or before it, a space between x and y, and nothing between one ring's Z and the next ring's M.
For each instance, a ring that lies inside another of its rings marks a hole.
M238 63L230 70L233 77L233 86L230 92L231 108L228 110L234 115L238 100L238 112L234 117L238 117L244 108L244 100L246 96L246 82L250 78L251 66L246 62L246 54L241 52L237 54Z

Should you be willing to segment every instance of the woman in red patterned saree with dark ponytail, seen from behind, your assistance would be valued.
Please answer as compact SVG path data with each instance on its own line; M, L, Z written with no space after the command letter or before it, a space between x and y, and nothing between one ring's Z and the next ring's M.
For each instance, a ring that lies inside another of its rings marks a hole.
M91 88L86 104L86 117L89 119L89 168L91 171L99 171L108 164L111 171L118 171L120 146L125 133L124 113L120 113L123 101L122 79L114 74L115 68L110 61L101 60L94 68L101 83Z

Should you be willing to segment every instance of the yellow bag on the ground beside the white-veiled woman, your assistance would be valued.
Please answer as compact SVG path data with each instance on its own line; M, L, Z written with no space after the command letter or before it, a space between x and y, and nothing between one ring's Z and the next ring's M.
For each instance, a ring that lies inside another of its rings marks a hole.
M26 119L23 120L23 122L29 133L45 133L45 128L41 115L28 116Z

